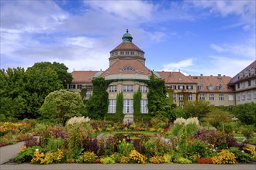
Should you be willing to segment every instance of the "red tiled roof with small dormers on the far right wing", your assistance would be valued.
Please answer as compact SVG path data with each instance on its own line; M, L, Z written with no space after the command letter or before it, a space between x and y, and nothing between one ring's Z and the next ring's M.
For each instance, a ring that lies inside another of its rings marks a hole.
M199 90L199 92L232 92L233 90L227 87L227 83L230 82L230 76L188 76L191 80L198 83L198 85L203 86L203 90ZM209 90L208 86L212 85L213 90ZM217 86L221 85L222 90L218 90Z

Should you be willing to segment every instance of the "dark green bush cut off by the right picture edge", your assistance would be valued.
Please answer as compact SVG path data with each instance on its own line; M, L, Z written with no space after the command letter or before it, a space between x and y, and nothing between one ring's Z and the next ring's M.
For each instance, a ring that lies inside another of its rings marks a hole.
M256 104L239 104L233 107L232 112L243 124L254 124L256 126Z

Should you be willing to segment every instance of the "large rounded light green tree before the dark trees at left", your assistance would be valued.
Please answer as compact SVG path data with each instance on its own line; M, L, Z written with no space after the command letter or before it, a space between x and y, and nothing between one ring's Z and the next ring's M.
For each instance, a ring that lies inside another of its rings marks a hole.
M40 114L44 119L56 120L64 125L71 117L81 116L83 107L79 93L57 90L45 98Z

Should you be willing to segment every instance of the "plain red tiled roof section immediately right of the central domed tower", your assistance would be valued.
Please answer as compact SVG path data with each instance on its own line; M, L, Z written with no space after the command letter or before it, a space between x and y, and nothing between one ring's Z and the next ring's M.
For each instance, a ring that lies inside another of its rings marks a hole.
M159 71L157 72L165 83L195 83L181 72Z

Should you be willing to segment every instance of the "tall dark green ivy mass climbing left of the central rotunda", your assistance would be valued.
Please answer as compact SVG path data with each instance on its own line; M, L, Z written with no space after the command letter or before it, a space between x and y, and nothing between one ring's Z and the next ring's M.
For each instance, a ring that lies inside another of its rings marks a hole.
M103 120L109 107L109 93L106 91L109 86L109 82L104 80L104 78L99 77L92 80L92 84L92 97L88 99L85 109L88 117Z

